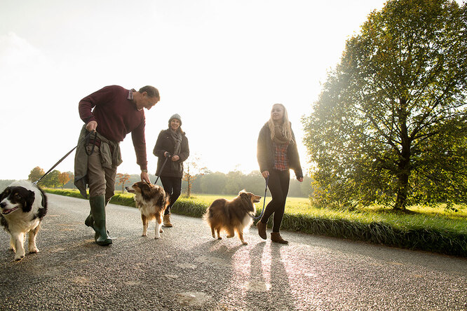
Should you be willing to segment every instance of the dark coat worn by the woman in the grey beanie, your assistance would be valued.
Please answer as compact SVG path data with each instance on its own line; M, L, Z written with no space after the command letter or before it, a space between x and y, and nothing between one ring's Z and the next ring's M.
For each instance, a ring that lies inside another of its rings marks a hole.
M170 134L170 129L162 130L157 137L156 146L154 146L154 155L158 157L157 160L157 171L156 176L162 177L183 177L183 162L187 160L188 156L190 155L190 150L188 147L188 139L185 134L182 134L182 143L180 144L180 159L172 162L171 159L167 160L165 163L164 170L159 173L161 167L164 163L165 156L164 153L167 151L170 155L174 155L173 152L175 150L175 141L172 139L172 135Z

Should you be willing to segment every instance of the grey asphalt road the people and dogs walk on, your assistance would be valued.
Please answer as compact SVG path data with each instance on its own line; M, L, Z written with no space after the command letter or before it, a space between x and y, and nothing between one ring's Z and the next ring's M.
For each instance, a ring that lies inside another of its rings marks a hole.
M119 205L100 247L86 200L48 199L38 254L13 261L1 230L1 310L467 310L466 258L290 232L271 244L255 228L241 245L178 215L154 240Z

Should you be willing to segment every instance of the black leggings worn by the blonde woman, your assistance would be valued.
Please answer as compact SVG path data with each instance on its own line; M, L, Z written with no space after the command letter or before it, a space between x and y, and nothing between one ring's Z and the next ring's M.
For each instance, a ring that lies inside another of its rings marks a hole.
M267 223L269 217L274 214L273 218L273 232L279 232L280 223L284 216L285 200L287 200L287 193L289 192L290 172L270 170L268 188L271 191L272 200L266 206L264 215L262 216L262 223Z

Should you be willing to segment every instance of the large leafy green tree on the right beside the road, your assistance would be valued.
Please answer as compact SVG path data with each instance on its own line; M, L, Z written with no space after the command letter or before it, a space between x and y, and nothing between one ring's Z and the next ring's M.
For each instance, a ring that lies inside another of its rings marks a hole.
M466 29L455 1L368 15L304 118L318 202L467 202Z

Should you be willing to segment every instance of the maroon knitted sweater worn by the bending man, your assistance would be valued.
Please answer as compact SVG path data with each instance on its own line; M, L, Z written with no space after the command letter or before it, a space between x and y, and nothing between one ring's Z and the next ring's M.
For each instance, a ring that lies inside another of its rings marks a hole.
M137 110L133 100L128 99L130 90L119 85L106 86L79 102L79 116L86 124L97 122L97 132L111 141L123 141L131 132L135 146L136 163L147 170L144 111Z

